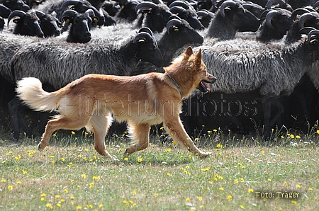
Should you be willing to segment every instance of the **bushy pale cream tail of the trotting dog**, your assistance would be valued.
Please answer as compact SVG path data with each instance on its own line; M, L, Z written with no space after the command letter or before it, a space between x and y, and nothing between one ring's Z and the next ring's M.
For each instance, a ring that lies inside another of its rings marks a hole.
M52 111L59 106L60 96L57 92L44 91L41 81L33 77L18 81L16 93L33 110Z

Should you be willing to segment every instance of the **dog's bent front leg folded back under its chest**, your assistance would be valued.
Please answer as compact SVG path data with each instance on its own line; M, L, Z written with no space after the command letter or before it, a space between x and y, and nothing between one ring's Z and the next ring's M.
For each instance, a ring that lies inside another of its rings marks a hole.
M128 128L135 143L130 145L130 147L125 150L125 155L130 155L133 152L138 152L142 149L146 149L148 147L150 138L150 124L129 123Z

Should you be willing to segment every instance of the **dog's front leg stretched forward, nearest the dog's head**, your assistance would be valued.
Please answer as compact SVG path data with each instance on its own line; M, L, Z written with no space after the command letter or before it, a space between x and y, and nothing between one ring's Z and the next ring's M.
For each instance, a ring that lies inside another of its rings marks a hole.
M169 118L169 120L164 122L164 128L172 137L172 139L174 139L174 141L181 144L182 147L186 147L189 152L194 153L196 156L199 156L200 158L206 158L211 154L209 152L203 152L195 146L189 135L187 135L179 117L175 118L172 116Z

